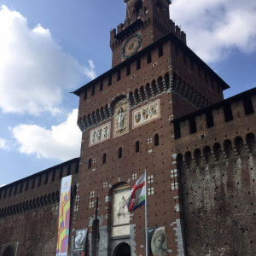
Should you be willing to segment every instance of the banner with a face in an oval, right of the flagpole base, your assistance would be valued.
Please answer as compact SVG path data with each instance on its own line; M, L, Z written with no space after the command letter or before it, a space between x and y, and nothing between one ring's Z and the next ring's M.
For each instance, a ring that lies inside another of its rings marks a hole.
M149 256L167 256L166 227L148 230Z

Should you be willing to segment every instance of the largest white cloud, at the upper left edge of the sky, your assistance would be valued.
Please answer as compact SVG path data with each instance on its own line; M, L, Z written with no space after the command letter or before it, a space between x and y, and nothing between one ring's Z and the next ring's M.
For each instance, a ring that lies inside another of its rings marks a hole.
M0 7L0 108L4 113L60 112L62 93L96 77L55 43L49 29L30 29L19 12Z

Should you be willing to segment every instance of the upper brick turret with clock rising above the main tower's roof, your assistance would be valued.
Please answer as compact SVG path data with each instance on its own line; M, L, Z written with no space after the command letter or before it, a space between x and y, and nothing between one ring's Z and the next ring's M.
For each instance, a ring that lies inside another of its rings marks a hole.
M125 22L110 32L113 52L112 66L125 61L130 55L154 43L170 32L186 44L186 35L169 18L169 0L125 0ZM136 39L139 44L137 44ZM122 54L120 55L120 52Z

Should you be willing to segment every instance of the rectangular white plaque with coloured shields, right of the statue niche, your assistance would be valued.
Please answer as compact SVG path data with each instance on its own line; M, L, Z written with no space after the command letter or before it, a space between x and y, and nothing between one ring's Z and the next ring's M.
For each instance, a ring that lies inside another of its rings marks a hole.
M160 99L132 111L132 129L160 119Z

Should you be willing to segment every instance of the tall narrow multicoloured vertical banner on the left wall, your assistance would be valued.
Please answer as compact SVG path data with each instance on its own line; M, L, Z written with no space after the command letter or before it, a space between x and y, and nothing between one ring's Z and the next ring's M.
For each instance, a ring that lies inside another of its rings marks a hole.
M72 175L61 180L56 256L67 256Z

